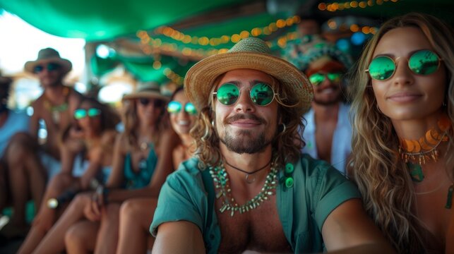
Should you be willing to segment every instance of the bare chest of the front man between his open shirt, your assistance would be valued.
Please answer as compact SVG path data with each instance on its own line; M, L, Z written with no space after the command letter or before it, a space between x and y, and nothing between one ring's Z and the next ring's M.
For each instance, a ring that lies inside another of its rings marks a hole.
M244 214L221 213L221 200L216 200L217 219L220 224L220 253L242 253L255 250L265 253L291 253L277 214L275 195L259 207Z

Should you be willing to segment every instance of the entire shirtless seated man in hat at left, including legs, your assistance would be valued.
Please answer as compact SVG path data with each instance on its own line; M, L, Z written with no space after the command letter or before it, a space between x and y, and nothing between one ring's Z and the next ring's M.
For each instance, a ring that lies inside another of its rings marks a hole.
M82 95L63 84L64 75L71 70L71 62L62 59L55 49L41 49L37 59L25 63L24 69L37 76L44 91L31 104L33 114L30 117L30 133L24 133L19 140L20 145L14 146L15 164L10 169L10 175L20 180L15 180L18 183L15 186L25 183L34 186L31 189L33 196L41 199L46 181L61 170L60 134L71 123L73 111L79 106ZM42 128L40 120L44 121L47 131L43 143L38 141L38 131ZM32 162L35 160L39 162ZM40 188L40 191L36 188ZM16 188L15 192L18 200L28 200L29 191Z

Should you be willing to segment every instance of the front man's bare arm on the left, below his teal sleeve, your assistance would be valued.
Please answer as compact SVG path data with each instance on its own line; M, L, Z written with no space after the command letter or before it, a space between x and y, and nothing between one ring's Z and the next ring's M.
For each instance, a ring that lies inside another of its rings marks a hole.
M196 224L187 221L160 224L152 253L205 253L202 232Z

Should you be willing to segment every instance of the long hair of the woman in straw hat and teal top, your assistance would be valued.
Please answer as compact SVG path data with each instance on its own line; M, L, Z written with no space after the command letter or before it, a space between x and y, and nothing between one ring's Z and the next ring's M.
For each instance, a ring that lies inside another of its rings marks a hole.
M128 137L128 150L138 150L139 143L138 143L138 136L137 136L137 128L139 126L139 119L137 117L137 99L127 99L124 101L123 104L123 111L121 117L124 123L124 134ZM165 119L165 106L166 103L162 103L162 107L160 109L160 115L158 116L156 123L155 123L155 135L153 135L153 140L151 140L155 145L159 145L159 137L160 133L168 127L167 121L162 121Z

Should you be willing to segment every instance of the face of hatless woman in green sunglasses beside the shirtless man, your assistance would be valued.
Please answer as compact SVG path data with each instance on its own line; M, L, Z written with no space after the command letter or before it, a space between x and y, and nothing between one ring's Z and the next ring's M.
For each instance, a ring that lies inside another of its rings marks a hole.
M84 133L97 133L101 128L101 110L85 101L74 111L74 117Z

